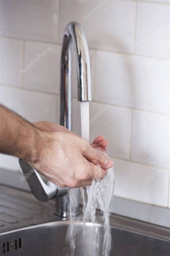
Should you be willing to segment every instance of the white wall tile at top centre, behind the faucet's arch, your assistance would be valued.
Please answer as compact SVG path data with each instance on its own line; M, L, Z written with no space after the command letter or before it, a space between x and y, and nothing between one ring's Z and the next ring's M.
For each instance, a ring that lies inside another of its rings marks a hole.
M89 47L133 52L135 3L109 0L101 8L97 8L98 4L101 5L100 1L61 1L59 40L62 39L67 23L77 21L84 28Z

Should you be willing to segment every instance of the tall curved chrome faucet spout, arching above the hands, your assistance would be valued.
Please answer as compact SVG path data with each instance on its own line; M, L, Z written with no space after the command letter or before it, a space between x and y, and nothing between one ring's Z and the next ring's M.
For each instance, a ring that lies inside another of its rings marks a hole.
M78 101L91 101L89 50L78 22L70 22L63 34L60 80L60 124L72 129L72 48L75 50Z

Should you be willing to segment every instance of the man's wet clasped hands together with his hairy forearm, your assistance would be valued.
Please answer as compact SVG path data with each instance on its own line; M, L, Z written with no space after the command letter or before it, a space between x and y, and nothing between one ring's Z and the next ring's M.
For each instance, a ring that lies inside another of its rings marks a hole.
M31 124L2 105L0 127L0 141L5 141L0 143L0 153L13 155L30 163L60 187L90 185L100 175L97 164L101 169L100 178L113 165L107 156L95 149L100 147L105 150L108 142L103 136L97 137L90 145L60 125L48 122L43 125ZM37 168L38 163L41 164Z

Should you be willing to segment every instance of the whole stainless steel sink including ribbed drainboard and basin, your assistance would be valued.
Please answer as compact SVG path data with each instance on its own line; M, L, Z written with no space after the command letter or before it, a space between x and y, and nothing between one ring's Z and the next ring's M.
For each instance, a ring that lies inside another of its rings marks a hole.
M69 256L65 242L68 220L53 215L55 202L40 203L30 193L0 187L0 255ZM5 196L6 195L6 196ZM97 219L100 212L97 212ZM92 224L88 223L87 228ZM113 248L110 256L169 256L169 230L126 217L112 215ZM75 256L90 256L94 246L93 232L82 235L82 217L76 222ZM99 228L99 255L103 226Z

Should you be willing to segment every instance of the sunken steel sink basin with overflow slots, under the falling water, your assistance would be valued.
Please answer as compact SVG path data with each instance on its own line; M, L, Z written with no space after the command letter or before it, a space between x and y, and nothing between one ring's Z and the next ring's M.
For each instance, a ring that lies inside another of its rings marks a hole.
M69 221L54 221L37 226L5 232L0 235L0 255L13 256L69 256L69 245L65 242ZM93 249L93 232L82 235L83 223L77 222L75 256L90 256ZM87 228L91 226L87 224ZM103 226L99 229L99 256L103 238ZM138 234L112 227L115 256L169 256L170 243L164 239Z

